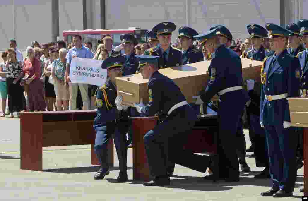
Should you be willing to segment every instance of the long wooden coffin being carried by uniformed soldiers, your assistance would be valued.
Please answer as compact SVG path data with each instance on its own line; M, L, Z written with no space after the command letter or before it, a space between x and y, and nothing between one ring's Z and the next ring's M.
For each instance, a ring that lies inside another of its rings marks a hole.
M260 82L260 72L263 62L251 61L241 58L243 80L254 79ZM209 65L211 61L201 61L193 64L177 67L159 69L163 75L171 78L181 89L188 103L196 102L193 96L196 96L201 90L204 90L209 80ZM228 65L228 64L226 64ZM142 78L141 74L133 74L125 77L116 78L117 91L123 96L123 103L133 105L139 103L140 99L148 103L148 80ZM214 100L217 99L214 97Z

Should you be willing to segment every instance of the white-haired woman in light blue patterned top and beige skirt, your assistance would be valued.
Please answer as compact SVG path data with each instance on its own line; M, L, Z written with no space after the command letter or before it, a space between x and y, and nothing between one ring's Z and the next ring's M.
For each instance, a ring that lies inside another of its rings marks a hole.
M68 110L68 101L70 100L70 90L68 85L64 85L66 55L67 49L61 48L59 50L59 59L55 59L52 63L51 75L54 79L58 110L62 110L62 104L64 106L64 110Z

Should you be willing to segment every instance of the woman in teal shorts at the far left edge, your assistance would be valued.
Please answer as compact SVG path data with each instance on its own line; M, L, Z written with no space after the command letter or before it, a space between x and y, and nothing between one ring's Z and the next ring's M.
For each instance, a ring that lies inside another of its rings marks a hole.
M0 64L0 97L1 97L1 108L2 108L2 112L3 115L1 115L0 117L5 117L5 108L6 108L6 73L7 73L7 69L6 69L6 61L7 61L7 52L2 52L1 54L1 58L3 60L3 62Z

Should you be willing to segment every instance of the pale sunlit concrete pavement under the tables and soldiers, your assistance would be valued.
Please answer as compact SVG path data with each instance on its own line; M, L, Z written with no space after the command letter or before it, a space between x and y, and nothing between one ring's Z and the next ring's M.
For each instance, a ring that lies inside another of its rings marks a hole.
M241 172L237 183L204 181L204 174L176 165L171 185L144 187L142 181L132 180L132 149L128 149L129 182L117 183L118 160L104 180L94 180L99 167L91 166L90 145L44 147L44 171L20 170L20 120L0 118L0 200L273 200L261 197L269 190L270 179L255 179L262 168L254 158L247 158L250 173ZM245 130L249 147L248 131ZM116 155L116 154L115 154ZM303 193L303 169L298 171L294 196L276 198L299 200Z

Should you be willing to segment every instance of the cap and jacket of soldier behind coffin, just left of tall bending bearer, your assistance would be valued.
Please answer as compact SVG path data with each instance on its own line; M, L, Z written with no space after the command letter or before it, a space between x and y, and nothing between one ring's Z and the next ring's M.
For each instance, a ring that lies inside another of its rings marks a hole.
M181 26L179 28L179 38L187 37L188 39L195 40L193 37L198 35L198 32L193 28ZM199 51L194 45L189 47L186 51L182 50L181 65L191 64L203 61L203 53Z

